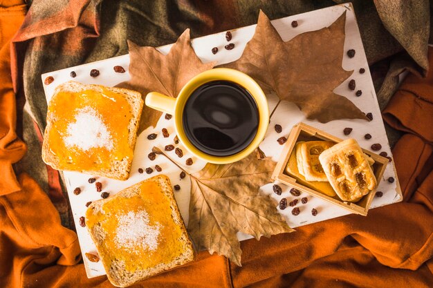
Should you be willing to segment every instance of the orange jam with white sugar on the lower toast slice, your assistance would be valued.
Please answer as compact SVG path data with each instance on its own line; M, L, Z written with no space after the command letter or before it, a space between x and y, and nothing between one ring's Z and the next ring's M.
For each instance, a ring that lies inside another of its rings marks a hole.
M88 209L86 225L92 229L99 222L106 233L98 247L105 267L116 259L133 272L172 262L183 253L181 228L172 218L169 198L155 182L144 182L140 195L113 198L102 210L105 214Z

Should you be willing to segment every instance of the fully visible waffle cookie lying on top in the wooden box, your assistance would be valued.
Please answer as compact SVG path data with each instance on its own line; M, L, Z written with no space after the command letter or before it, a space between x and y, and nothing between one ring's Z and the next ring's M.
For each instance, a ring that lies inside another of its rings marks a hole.
M376 177L358 142L344 140L319 156L329 183L343 201L356 202L376 188Z

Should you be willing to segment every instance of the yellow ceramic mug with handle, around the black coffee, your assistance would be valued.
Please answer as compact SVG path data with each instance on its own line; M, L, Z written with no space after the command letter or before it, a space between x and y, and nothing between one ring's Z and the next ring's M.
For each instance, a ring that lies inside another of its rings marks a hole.
M183 113L187 99L192 95L194 90L211 81L230 81L234 84L238 84L248 90L257 105L259 123L257 125L256 135L246 148L233 155L216 156L199 150L199 148L196 148L196 146L190 142L183 128ZM214 164L232 163L250 155L263 140L269 124L268 102L259 84L248 75L238 70L228 68L214 68L196 75L183 86L177 98L168 97L156 92L148 93L145 103L147 106L158 111L172 114L174 116L174 128L176 129L177 136L185 148L201 160Z

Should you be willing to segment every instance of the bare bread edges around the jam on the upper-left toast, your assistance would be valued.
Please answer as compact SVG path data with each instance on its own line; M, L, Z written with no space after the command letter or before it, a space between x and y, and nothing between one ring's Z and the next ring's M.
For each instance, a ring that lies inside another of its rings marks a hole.
M133 90L127 90L124 88L111 88L111 87L94 85L94 84L85 85L76 81L68 81L63 84L60 84L55 88L53 98L56 97L58 93L65 92L65 91L80 92L82 90L95 90L98 92L102 92L103 89L124 96L125 99L127 99L127 102L129 102L129 104L131 105L132 117L131 117L131 121L129 122L128 128L129 128L129 145L133 149L134 146L136 145L137 131L138 131L138 126L140 124L142 107L144 104L140 93ZM53 155L53 153L50 153L50 149L49 149L50 143L48 142L48 133L50 129L53 127L53 121L54 121L53 115L50 115L48 113L46 119L47 125L44 133L44 142L42 144L42 160L44 160L46 164L52 166L54 169L64 170L64 167L59 165L58 157L56 155ZM87 173L91 175L109 177L117 180L127 180L129 178L129 171L131 171L131 164L132 164L132 159L125 157L122 160L113 161L112 163L110 163L109 169L102 169L98 171L80 170L79 172Z

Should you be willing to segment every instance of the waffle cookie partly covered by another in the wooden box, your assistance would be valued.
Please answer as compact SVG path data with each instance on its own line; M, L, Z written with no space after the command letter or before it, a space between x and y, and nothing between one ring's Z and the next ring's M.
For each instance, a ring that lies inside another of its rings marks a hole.
M308 141L296 144L297 169L306 181L328 181L320 164L319 155L333 144L335 143L329 141Z

